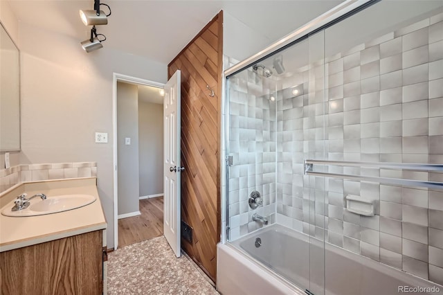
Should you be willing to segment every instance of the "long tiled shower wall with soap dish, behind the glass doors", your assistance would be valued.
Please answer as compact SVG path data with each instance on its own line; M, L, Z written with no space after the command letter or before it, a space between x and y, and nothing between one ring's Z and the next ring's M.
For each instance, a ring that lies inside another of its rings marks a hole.
M325 159L323 155L336 161L443 163L443 14L310 68L300 75L318 84L324 77L324 95L322 87L309 85L308 96L278 101L276 220L443 284L443 191L307 177L302 167L303 158ZM286 84L303 82L306 87L306 79L293 79ZM328 171L443 181L437 172ZM376 200L376 215L347 212L346 195Z

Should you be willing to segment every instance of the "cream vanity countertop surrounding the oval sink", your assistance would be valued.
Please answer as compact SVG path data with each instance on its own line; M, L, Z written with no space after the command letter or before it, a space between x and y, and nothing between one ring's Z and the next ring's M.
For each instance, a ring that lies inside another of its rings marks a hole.
M0 194L1 210L21 193L27 193L28 196L44 193L48 198L51 195L87 194L97 199L81 208L48 215L0 215L0 252L107 228L97 192L96 177L19 184Z

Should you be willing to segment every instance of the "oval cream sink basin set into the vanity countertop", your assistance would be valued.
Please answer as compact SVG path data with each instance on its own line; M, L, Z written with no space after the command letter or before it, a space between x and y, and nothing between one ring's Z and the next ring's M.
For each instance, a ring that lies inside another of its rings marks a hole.
M46 215L52 213L59 213L63 211L69 211L83 206L87 206L96 201L96 197L93 195L58 195L47 199L34 198L30 201L28 208L12 211L14 202L3 208L1 214L12 217L25 217L25 216L37 216Z

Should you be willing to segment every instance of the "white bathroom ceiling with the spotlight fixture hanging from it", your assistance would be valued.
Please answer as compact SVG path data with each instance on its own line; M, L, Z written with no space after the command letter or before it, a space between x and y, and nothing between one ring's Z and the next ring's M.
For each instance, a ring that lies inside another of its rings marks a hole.
M78 38L79 42L89 38L90 27L82 24L78 11L93 9L93 0L6 1L23 23ZM102 0L111 7L112 15L108 25L97 30L107 37L105 47L168 64L219 10L253 28L271 44L342 1ZM105 6L101 9L107 11Z

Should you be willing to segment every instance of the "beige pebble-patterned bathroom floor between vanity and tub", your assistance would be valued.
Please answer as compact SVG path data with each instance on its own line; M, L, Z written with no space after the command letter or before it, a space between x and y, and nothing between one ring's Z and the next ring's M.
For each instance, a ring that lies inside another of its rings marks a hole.
M107 294L219 294L194 262L176 258L163 236L108 255Z

